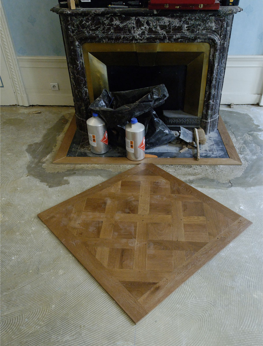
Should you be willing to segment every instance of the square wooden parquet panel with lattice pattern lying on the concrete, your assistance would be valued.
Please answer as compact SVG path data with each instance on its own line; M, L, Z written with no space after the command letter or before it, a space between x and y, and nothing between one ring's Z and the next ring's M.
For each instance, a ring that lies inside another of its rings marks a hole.
M251 224L153 164L38 216L135 323Z

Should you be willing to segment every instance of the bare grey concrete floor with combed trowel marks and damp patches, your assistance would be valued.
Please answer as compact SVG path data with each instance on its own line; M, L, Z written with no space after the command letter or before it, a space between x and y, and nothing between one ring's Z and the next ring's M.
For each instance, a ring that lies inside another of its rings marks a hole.
M1 107L1 346L262 345L262 107L221 107L242 166L160 166L253 225L136 326L37 218L133 166L52 164L73 112Z

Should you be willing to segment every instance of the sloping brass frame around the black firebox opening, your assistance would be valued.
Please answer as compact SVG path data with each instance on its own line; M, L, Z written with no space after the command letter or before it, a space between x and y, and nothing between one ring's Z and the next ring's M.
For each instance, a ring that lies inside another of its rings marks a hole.
M209 43L84 43L90 103L109 89L109 65L186 65L185 113L202 116L209 63Z

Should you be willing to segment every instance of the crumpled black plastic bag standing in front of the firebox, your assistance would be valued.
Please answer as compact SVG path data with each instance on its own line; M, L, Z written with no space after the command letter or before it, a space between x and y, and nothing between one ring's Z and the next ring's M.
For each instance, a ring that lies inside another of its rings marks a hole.
M97 112L106 122L109 144L113 146L125 148L125 125L131 118L137 118L145 126L145 148L150 149L175 139L173 132L154 111L168 96L164 84L118 92L104 89L89 109Z

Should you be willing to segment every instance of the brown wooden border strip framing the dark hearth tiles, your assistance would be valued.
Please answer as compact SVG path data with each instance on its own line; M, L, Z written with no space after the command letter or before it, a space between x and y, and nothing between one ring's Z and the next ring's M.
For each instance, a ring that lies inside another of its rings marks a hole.
M242 162L238 156L236 148L227 132L226 126L223 123L222 118L219 116L218 131L225 145L229 158L200 158L199 161L196 158L186 157L152 157L152 155L146 155L143 160L130 161L126 157L73 157L67 156L70 144L76 132L76 118L72 118L68 130L62 140L61 146L55 155L53 163L72 163L72 164L141 164L141 163L153 163L156 165L242 165Z

